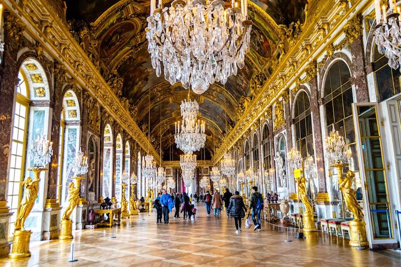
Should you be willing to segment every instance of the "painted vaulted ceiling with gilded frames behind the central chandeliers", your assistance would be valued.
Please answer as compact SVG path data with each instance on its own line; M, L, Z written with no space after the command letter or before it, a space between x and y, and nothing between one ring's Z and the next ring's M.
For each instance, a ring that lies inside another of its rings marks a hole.
M180 84L171 86L163 75L156 77L150 64L145 38L149 0L65 0L70 30L106 81L118 85L115 93L129 103L132 116L147 134L150 96L150 136L163 153L173 143L174 122L180 119L179 105L187 91ZM163 5L169 5L163 1ZM203 95L191 94L199 103L200 117L207 124L206 150L213 154L226 129L238 120L239 106L252 100L250 83L259 75L268 77L271 61L279 53L279 24L288 25L305 17L307 0L253 0L249 16L254 22L251 50L245 67L231 76L226 85L215 83ZM227 2L226 5L230 5ZM112 81L118 81L112 83ZM226 126L227 121L227 126ZM173 148L176 150L176 148ZM178 151L175 154L179 153Z

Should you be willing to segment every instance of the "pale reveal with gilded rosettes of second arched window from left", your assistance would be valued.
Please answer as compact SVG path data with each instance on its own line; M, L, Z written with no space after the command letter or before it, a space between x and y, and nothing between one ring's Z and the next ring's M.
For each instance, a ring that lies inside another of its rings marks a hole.
M73 163L80 146L80 109L76 94L68 90L63 98L64 138L61 205L68 198L68 185L73 181Z

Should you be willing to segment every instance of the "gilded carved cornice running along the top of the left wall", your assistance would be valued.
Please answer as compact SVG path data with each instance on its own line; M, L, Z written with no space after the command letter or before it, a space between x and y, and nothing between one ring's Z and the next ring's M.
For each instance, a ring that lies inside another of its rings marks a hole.
M87 89L111 117L147 151L147 137L129 112L124 109L53 7L46 0L24 1L22 5L5 0L3 4L26 25L26 33L34 40L38 40L43 49L57 59L59 64L64 65L63 69L74 77L77 84ZM160 161L158 153L151 145L149 153L153 155L155 161Z

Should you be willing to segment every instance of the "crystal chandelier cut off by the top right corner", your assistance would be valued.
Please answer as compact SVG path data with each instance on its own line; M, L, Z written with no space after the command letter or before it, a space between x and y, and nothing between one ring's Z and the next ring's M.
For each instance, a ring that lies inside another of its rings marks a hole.
M396 70L401 64L401 11L395 4L396 0L388 2L389 9L386 11L384 5L380 10L380 0L374 1L376 13L374 41L377 51L388 59L388 66Z

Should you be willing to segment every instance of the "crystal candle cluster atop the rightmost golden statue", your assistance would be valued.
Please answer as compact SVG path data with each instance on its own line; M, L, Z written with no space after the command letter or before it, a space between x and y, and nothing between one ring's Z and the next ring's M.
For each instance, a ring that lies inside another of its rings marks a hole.
M330 163L348 163L351 158L351 149L346 149L344 137L334 130L334 127L326 137L325 144L326 157Z

